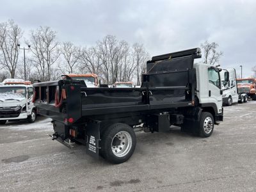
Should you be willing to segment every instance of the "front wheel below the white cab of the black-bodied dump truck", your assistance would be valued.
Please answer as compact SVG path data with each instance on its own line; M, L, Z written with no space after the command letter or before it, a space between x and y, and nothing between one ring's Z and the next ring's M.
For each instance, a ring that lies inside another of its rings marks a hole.
M211 136L214 129L214 118L209 112L202 112L199 122L199 136L207 138Z

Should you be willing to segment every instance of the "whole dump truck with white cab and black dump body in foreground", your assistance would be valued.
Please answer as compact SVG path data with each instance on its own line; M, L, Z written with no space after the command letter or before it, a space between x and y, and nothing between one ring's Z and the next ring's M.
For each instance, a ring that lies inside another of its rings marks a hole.
M220 69L194 64L196 58L199 48L152 57L140 88L88 88L72 79L36 83L35 106L52 118L52 140L67 147L82 143L90 156L123 163L134 152L136 131L177 125L209 137L223 120Z

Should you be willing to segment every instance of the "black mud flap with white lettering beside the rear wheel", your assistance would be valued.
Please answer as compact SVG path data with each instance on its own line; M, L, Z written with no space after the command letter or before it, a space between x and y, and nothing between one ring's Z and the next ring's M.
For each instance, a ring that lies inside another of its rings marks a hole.
M86 136L86 154L98 158L100 149L100 123L89 122L86 126Z

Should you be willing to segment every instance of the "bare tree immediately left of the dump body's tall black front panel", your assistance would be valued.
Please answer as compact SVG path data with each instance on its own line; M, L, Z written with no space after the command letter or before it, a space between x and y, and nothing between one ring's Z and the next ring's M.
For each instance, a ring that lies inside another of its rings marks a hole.
M132 62L136 65L136 82L137 85L141 84L141 76L146 72L146 63L149 60L149 54L145 51L142 44L132 45Z

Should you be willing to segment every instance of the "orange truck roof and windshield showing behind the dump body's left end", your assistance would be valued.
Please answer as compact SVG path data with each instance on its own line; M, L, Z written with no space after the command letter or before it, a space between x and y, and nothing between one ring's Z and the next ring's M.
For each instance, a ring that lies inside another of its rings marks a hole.
M87 87L99 87L99 79L96 74L67 74L63 79L83 80Z

